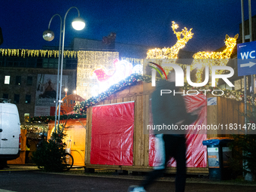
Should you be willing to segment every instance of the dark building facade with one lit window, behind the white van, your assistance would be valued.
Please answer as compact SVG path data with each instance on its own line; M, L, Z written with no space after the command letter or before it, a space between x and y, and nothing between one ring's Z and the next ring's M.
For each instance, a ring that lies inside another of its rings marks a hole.
M23 56L21 56L22 50L15 50L20 52L15 56L10 53L14 50L1 51L0 98L17 105L20 122L23 123L25 116L54 114L58 57L31 55L28 54L29 50L26 50ZM64 88L68 88L69 93L76 88L76 66L75 57L67 56L64 59L63 80L65 81L62 81L62 96L65 96ZM41 102L41 99L48 102Z

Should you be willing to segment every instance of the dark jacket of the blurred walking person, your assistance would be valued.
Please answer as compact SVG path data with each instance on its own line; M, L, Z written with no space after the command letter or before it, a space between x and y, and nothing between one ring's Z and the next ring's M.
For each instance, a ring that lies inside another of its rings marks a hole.
M171 90L172 93L163 93L160 96L161 90ZM175 96L173 92L175 90ZM179 92L179 93L177 93ZM184 103L183 93L175 87L175 82L166 80L157 81L156 89L151 95L151 111L153 115L154 127L159 125L175 125L178 121L184 120L183 125L190 125L197 120L197 115L187 113ZM154 130L154 134L185 134L182 130Z

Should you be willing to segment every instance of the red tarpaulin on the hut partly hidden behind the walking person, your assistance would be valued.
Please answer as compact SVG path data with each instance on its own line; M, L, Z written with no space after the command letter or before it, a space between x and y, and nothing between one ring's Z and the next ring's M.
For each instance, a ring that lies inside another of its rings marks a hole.
M194 111L200 106L204 106L200 112L199 117L193 123L194 125L202 125L207 123L206 119L206 96L184 96L184 100L187 107L187 112ZM197 134L194 134L197 133ZM206 167L206 146L203 145L203 140L206 140L206 130L190 130L187 133L187 167ZM157 162L160 157L156 157L154 136L150 134L149 136L149 154L148 154L148 164L149 166L157 166ZM174 158L169 160L168 166L176 166Z

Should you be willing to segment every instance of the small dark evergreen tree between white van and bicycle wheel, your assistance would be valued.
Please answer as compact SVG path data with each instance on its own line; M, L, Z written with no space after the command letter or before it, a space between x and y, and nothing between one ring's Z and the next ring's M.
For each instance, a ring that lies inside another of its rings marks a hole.
M38 168L47 172L61 172L65 169L62 164L62 157L66 154L66 143L62 143L64 137L63 133L53 133L52 139L38 145L38 150L32 154L32 160Z

